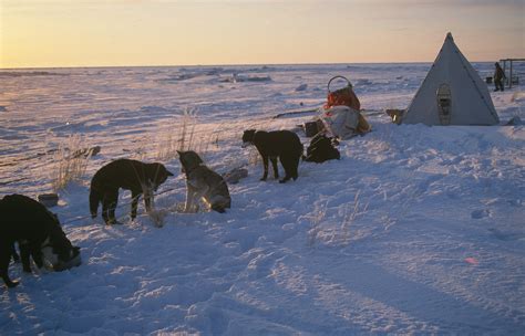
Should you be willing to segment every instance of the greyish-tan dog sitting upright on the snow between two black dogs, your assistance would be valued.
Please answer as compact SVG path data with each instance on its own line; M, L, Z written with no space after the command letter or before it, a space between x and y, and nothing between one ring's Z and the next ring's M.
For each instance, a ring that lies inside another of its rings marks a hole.
M198 211L198 200L217 212L225 212L231 206L228 186L224 178L206 167L203 159L193 150L178 151L183 172L186 174L185 212Z

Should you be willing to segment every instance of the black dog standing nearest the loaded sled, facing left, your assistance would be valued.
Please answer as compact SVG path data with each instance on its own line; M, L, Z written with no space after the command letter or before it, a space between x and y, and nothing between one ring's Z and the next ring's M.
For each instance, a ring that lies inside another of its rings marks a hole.
M260 179L261 181L268 177L268 158L274 166L274 177L276 179L279 178L277 158L280 159L282 168L285 168L285 178L279 181L280 183L285 183L290 178L297 179L297 168L303 150L297 134L290 130L264 132L248 129L243 134L243 143L244 146L255 145L262 157L265 172Z

